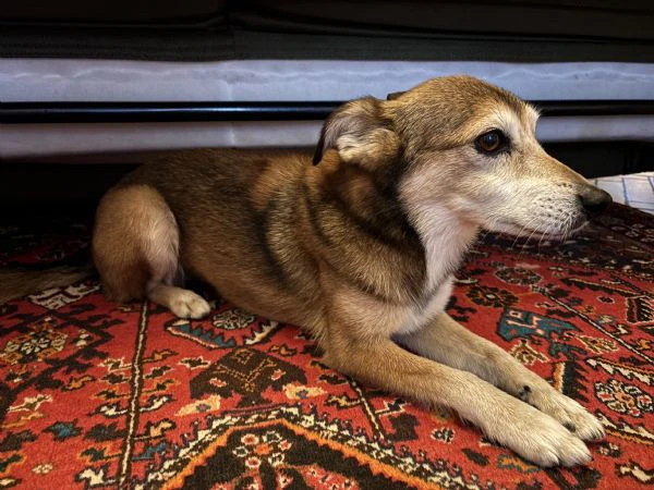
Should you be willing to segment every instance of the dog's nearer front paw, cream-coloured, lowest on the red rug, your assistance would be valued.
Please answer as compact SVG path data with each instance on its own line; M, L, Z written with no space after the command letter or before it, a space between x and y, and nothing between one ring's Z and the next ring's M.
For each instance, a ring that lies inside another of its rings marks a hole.
M581 439L550 416L525 404L518 411L509 409L501 426L484 429L491 439L542 467L570 467L592 460Z

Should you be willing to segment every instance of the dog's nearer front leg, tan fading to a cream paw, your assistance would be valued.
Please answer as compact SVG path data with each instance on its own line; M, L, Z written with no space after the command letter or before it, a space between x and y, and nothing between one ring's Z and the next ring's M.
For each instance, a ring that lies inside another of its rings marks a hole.
M330 326L325 362L360 381L429 406L446 406L491 439L541 466L591 460L585 444L550 416L475 375L411 354L390 339Z

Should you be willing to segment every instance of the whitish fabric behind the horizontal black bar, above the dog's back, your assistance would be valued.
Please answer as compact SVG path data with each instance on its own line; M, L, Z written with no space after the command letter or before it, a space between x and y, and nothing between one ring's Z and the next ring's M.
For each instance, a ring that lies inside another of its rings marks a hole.
M526 99L654 99L654 64L0 59L1 101L347 100L468 73ZM313 145L317 122L5 125L0 157ZM547 118L544 140L654 139L654 118Z

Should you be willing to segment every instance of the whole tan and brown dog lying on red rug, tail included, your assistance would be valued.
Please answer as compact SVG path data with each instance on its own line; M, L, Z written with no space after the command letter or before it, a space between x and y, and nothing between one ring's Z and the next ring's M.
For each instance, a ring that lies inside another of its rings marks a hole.
M610 196L548 156L538 113L470 76L337 109L310 154L203 149L157 159L101 199L95 268L109 298L183 318L235 305L306 329L338 371L445 406L543 467L591 460L600 421L444 308L481 229L565 238ZM313 161L312 161L313 160ZM77 279L10 278L4 299Z

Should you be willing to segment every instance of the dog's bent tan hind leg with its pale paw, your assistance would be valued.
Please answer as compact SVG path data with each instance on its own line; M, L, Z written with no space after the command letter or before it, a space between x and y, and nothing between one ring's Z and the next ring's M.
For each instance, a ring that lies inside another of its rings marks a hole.
M173 285L180 271L180 233L164 197L147 185L111 189L100 201L93 256L111 299L148 297L181 318L201 318L210 307Z

